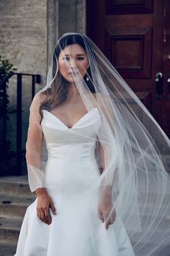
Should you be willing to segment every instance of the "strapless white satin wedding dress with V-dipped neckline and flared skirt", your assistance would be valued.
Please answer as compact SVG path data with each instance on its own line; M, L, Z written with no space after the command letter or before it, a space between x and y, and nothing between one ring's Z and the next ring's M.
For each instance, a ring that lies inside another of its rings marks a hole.
M88 188L99 177L95 158L101 116L93 108L73 127L43 110L42 130L48 150L45 187L57 215L48 226L37 217L37 200L27 208L16 256L133 256L125 227L117 216L106 230L97 213L99 193ZM76 133L74 132L76 130Z

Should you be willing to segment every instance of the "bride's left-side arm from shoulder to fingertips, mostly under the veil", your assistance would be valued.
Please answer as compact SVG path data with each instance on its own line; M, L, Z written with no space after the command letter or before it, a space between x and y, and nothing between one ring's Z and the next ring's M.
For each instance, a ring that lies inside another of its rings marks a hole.
M26 161L31 191L35 191L37 195L37 216L44 223L50 224L51 217L49 208L55 212L53 200L48 195L47 190L43 186L44 174L41 167L41 150L44 136L42 127L40 126L40 103L42 98L40 94L35 95L30 106L30 119L26 143Z

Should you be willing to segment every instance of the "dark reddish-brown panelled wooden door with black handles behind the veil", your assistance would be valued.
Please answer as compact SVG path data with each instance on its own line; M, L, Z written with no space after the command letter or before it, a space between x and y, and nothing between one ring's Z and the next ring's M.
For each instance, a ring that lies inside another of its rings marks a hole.
M86 7L87 35L170 137L170 1L87 0Z

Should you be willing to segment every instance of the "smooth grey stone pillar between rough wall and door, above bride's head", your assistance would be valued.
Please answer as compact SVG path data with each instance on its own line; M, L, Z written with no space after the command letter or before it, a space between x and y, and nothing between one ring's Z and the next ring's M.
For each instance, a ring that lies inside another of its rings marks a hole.
M86 33L86 0L48 0L47 67L53 48L64 33Z

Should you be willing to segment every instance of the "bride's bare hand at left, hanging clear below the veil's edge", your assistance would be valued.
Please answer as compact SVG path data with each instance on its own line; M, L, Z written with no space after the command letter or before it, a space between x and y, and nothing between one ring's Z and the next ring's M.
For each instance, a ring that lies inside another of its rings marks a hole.
M45 188L38 188L35 190L37 194L37 216L40 220L48 225L51 223L51 216L49 208L51 208L53 214L57 214L53 200Z

